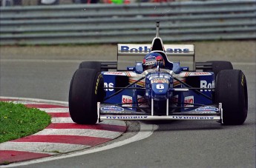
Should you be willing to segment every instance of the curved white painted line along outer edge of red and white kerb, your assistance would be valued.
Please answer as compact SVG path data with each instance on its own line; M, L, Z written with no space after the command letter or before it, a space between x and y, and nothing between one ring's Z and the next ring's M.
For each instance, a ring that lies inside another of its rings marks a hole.
M116 142L114 144L109 144L104 147L99 147L99 148L94 148L94 149L88 149L85 151L67 153L65 155L56 155L56 156L51 156L51 157L47 157L47 158L40 158L40 159L33 160L33 161L24 161L22 163L9 164L4 167L18 167L18 166L25 166L25 165L29 165L29 164L38 164L38 163L42 163L42 162L46 162L46 161L54 161L54 160L59 160L62 158L72 158L72 157L76 157L79 155L87 155L87 154L90 154L93 152L100 152L100 151L107 150L107 149L113 149L115 147L121 147L125 144L131 144L132 142L140 141L142 139L148 138L150 135L153 134L154 130L157 130L157 128L158 128L157 125L143 124L142 122L140 122L140 131L137 133L137 135L134 135L133 137L125 139L123 141Z

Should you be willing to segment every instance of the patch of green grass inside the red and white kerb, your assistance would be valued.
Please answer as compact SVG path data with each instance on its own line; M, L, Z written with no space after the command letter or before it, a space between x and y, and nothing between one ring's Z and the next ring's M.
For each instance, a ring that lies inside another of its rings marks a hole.
M49 124L46 112L0 101L0 143L34 134Z

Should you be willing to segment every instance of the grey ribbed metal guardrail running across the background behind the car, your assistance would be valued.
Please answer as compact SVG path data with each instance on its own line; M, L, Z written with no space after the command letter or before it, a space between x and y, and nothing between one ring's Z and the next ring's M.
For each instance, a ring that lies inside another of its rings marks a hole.
M255 0L0 7L0 44L256 39Z

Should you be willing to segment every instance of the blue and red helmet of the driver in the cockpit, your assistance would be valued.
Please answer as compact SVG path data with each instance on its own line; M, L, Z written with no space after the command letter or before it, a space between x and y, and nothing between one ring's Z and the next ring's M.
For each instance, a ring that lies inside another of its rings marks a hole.
M160 53L148 53L143 58L143 70L149 70L157 68L157 65L159 67L165 66L165 60L163 59L163 56L160 55Z

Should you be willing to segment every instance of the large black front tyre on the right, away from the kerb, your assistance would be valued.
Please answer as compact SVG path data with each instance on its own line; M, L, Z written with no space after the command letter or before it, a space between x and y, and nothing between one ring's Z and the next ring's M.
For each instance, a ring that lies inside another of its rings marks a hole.
M215 100L222 103L223 124L243 124L248 111L246 76L241 70L221 70L216 80Z

